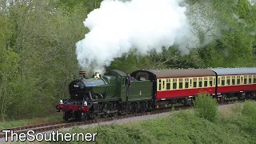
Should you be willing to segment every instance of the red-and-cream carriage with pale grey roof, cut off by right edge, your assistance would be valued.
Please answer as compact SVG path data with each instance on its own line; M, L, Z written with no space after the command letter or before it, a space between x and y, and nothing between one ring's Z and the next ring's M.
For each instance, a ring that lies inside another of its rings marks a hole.
M256 68L217 68L217 95L223 102L226 98L255 98Z

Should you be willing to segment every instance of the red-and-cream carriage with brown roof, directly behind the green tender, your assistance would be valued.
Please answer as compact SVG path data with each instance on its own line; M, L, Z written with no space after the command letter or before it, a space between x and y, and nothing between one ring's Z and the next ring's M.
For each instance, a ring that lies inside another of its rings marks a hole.
M153 94L157 108L174 103L192 105L192 99L200 91L216 93L216 73L213 70L137 70L131 75L138 80L149 79L154 83Z

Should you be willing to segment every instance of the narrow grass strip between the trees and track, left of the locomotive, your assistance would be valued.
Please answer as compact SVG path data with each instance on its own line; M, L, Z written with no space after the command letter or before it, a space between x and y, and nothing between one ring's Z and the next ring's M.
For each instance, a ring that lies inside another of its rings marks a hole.
M37 124L42 122L59 122L62 121L62 115L58 114L55 116L49 116L46 118L32 118L32 119L21 119L21 120L13 120L13 121L0 121L0 130L4 130L10 127L17 127L17 126L26 126L31 124Z

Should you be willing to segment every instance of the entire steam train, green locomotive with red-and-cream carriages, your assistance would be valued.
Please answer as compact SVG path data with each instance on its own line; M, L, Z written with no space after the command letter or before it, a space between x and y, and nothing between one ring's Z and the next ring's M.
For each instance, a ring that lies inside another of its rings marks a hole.
M118 114L143 113L180 103L193 105L206 91L218 102L230 98L256 98L256 68L137 70L127 76L121 70L94 74L70 82L69 99L56 106L63 119L86 121ZM130 81L131 77L132 80Z

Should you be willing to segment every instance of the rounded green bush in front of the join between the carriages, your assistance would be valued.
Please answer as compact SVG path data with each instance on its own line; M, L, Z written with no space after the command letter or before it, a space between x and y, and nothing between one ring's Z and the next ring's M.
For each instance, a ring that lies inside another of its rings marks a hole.
M194 107L199 118L214 122L218 118L218 103L208 93L200 92L195 99Z

